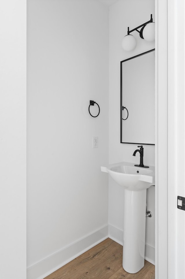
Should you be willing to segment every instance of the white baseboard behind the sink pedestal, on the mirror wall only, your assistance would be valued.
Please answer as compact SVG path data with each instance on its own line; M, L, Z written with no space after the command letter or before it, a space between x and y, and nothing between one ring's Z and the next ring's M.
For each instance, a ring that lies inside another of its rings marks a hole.
M109 238L123 246L123 231L109 224ZM145 260L155 265L155 248L145 244Z

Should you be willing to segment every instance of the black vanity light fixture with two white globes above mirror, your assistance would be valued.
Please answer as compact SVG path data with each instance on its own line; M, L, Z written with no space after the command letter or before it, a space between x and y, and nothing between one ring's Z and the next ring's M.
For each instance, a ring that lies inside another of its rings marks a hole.
M142 27L142 28L141 28ZM138 28L141 28L140 31ZM127 35L122 40L122 48L126 51L133 50L136 47L136 39L130 33L133 31L139 32L141 39L145 39L146 41L154 41L155 40L155 23L153 22L152 14L149 21L141 24L140 26L127 31Z

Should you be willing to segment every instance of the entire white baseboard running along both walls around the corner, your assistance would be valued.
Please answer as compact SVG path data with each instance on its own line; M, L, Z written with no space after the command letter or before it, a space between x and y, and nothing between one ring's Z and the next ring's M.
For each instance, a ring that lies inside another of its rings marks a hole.
M123 231L107 225L27 268L27 279L43 279L106 238L123 245ZM155 248L145 244L145 260L155 265Z

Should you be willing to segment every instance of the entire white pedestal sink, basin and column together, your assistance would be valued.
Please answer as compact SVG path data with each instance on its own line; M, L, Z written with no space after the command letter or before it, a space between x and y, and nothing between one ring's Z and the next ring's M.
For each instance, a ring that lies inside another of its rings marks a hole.
M123 268L136 273L144 267L147 188L155 185L155 167L144 169L121 162L101 166L125 189L123 225Z

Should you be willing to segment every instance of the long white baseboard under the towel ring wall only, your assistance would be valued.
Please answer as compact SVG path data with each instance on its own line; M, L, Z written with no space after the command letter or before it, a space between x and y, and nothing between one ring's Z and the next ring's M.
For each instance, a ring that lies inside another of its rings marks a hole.
M106 238L108 238L108 225L28 267L27 279L45 278Z

